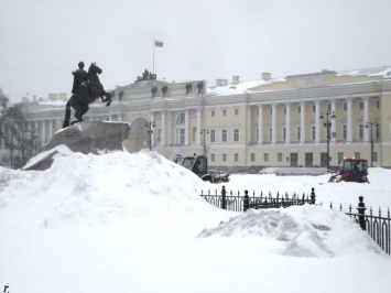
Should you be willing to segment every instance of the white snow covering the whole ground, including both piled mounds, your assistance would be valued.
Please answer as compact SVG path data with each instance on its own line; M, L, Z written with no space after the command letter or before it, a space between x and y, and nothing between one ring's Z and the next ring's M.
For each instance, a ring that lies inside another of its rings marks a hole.
M155 152L58 156L0 169L0 287L9 292L390 292L391 257L335 208L391 207L391 171L371 184L328 175L231 175L228 191L308 194L323 206L232 213ZM356 211L356 210L354 210Z

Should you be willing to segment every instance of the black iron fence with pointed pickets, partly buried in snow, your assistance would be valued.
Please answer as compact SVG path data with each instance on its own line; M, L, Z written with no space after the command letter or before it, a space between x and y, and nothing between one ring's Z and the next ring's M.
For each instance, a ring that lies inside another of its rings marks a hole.
M311 188L311 193L307 195L304 193L302 195L293 193L290 196L287 193L284 195L276 193L272 196L271 193L263 195L261 192L261 194L257 196L256 192L249 194L248 191L245 191L243 194L240 194L238 191L236 195L232 191L230 191L227 194L226 187L222 186L220 194L218 194L217 191L215 194L211 194L208 191L207 194L202 192L200 196L204 197L204 199L209 204L232 211L246 211L249 208L286 208L290 206L301 206L305 204L315 205L316 202L315 188ZM333 203L330 203L329 207L330 209L334 208ZM381 216L381 208L379 208L379 216L373 215L372 207L369 209L369 215L366 214L366 209L363 197L360 196L357 213L352 213L352 207L350 205L349 211L345 214L355 218L361 229L368 231L368 234L382 248L382 250L385 251L385 253L391 254L390 208L388 208L387 217ZM341 205L339 205L339 210L343 211Z

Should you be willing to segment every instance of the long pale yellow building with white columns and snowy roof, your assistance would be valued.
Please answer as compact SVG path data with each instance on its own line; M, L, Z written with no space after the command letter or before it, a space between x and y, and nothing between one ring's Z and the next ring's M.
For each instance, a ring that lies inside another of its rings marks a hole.
M110 107L97 101L85 119L129 122L130 152L151 145L170 160L206 154L215 170L336 167L346 156L391 167L391 67L263 73L259 80L233 76L214 85L143 80L112 94ZM28 127L46 143L62 127L65 101L26 107Z

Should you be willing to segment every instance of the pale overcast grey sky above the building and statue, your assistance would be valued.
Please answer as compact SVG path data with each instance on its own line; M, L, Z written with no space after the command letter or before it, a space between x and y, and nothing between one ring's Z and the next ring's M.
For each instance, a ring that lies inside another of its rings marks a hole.
M0 0L0 88L67 93L84 61L107 90L158 79L254 80L391 65L389 0Z

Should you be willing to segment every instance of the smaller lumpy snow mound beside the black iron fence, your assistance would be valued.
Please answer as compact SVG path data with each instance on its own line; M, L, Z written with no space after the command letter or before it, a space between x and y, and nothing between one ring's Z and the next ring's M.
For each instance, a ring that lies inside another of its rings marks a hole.
M204 229L198 237L263 237L273 245L271 250L292 257L330 258L379 247L343 211L319 206L294 206L286 209L249 209Z

